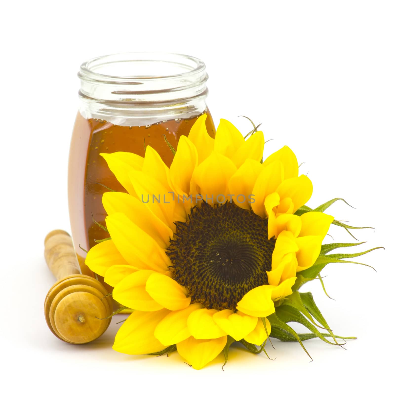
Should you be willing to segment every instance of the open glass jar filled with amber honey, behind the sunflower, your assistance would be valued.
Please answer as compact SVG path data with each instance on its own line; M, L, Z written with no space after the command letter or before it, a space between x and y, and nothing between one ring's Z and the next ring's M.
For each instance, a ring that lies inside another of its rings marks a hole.
M196 119L207 113L205 64L192 56L169 53L126 53L101 56L81 65L81 107L71 138L68 199L71 233L83 274L85 252L105 239L102 195L108 188L126 192L100 153L134 152L144 156L150 145L170 166L173 154ZM102 280L102 279L101 279Z

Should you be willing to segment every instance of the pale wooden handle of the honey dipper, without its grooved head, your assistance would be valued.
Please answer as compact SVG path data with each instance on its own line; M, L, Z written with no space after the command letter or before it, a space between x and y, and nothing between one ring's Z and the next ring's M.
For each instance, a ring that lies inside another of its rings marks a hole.
M81 273L73 241L66 231L57 229L49 232L44 246L45 261L56 280Z

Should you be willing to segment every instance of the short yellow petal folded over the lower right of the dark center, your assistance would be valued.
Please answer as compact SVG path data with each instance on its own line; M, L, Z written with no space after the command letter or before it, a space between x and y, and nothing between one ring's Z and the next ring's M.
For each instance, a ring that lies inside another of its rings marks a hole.
M261 285L247 292L237 303L237 310L254 317L266 317L275 312L271 286Z

